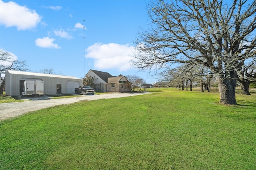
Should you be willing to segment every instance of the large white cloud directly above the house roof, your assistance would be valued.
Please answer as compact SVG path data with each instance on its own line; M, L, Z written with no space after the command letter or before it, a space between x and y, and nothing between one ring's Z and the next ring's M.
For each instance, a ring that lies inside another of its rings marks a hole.
M95 43L86 49L86 58L94 59L94 67L97 69L117 68L119 71L126 71L131 68L133 46L120 45L115 43Z

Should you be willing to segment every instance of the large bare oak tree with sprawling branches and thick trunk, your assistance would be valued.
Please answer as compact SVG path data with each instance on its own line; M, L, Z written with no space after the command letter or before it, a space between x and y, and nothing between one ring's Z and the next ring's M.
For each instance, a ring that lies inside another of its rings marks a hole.
M256 55L256 0L158 0L148 10L151 27L138 34L134 66L201 63L218 76L220 102L236 104L237 72Z

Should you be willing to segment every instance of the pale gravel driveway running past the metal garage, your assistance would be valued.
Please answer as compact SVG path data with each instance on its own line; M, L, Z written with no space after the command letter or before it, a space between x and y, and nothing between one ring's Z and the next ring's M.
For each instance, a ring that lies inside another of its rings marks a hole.
M40 110L40 109L44 109L44 108L52 107L56 105L71 104L81 100L122 98L122 97L137 96L142 94L148 94L148 92L107 93L107 94L86 95L86 96L80 95L78 97L62 98L62 99L50 99L47 97L38 97L38 98L34 98L34 100L29 100L25 102L3 103L3 104L0 104L0 120L22 115L29 111Z

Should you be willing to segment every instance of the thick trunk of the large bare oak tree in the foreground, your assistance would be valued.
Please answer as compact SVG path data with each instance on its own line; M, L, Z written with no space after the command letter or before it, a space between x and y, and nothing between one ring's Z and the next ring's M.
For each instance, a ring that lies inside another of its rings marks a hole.
M218 78L220 103L236 105L236 78Z

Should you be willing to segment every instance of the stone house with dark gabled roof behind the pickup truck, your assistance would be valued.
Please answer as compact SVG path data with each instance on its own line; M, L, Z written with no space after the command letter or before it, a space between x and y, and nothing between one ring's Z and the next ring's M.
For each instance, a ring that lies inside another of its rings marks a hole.
M129 92L131 83L122 74L112 76L108 72L89 70L86 76L94 77L94 89L96 92Z

